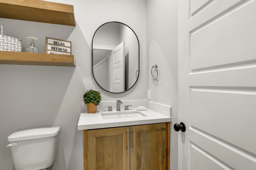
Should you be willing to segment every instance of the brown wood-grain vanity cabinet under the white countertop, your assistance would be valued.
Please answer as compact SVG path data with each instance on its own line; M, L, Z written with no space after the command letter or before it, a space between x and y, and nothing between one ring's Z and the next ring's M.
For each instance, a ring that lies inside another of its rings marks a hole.
M169 126L84 130L84 170L169 170Z

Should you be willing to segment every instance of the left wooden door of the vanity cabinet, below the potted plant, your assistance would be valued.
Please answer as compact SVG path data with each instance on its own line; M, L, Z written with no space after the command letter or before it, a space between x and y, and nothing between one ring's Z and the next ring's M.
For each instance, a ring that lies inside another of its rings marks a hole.
M84 158L84 169L129 170L129 133L130 127L84 131L84 138L87 137L87 139L84 139L84 154L87 155L87 158Z

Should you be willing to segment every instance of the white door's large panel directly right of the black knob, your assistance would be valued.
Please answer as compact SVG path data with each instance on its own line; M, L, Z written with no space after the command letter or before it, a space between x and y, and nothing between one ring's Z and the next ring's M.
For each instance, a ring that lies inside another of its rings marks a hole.
M192 88L191 126L256 154L255 102L256 91Z

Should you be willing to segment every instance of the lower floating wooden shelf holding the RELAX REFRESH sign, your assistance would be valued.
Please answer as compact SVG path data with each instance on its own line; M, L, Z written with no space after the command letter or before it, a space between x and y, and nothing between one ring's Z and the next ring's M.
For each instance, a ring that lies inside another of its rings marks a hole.
M73 55L0 51L0 64L76 66Z

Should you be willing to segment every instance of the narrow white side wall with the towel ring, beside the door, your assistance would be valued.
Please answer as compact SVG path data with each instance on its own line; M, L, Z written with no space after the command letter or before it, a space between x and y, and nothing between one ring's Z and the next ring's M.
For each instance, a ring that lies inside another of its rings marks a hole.
M172 106L172 122L178 109L178 0L147 0L147 82L151 101ZM160 78L151 78L158 64ZM171 126L172 127L172 126ZM177 132L171 129L171 170L177 170Z

